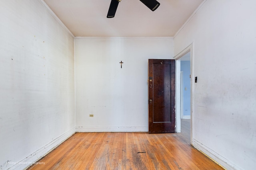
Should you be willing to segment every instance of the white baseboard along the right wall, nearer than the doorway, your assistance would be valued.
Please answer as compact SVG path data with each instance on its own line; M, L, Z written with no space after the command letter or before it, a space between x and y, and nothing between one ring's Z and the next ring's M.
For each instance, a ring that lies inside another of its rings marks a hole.
M202 152L204 155L206 155L208 158L216 162L216 164L220 165L222 168L226 170L242 170L242 168L238 167L236 164L230 162L223 156L219 155L218 153L214 152L210 148L204 146L202 143L196 141L193 139L192 141L193 147L195 147L197 150Z

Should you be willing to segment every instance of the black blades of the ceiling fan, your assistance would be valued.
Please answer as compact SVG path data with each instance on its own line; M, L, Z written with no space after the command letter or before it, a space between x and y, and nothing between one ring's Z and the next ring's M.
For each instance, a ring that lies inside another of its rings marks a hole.
M140 0L144 5L146 5L150 10L154 11L160 5L156 0ZM113 18L116 14L117 6L121 0L111 0L110 6L108 9L107 18Z

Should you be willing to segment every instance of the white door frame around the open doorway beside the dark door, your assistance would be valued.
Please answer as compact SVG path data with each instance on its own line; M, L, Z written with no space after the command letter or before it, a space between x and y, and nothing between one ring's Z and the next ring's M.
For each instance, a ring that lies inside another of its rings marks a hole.
M194 139L194 73L193 73L193 43L188 45L185 49L180 51L176 56L173 57L173 59L176 60L176 133L180 133L181 131L181 123L180 123L180 118L181 118L181 102L180 102L180 94L181 94L181 89L180 89L180 58L183 57L186 53L190 52L190 74L191 74L191 79L190 79L190 144L192 145L192 141Z

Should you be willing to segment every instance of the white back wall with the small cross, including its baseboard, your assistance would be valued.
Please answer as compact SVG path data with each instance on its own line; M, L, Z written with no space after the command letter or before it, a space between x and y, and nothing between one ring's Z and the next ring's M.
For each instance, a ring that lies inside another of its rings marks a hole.
M148 59L172 59L173 39L75 39L75 53L76 130L148 131Z

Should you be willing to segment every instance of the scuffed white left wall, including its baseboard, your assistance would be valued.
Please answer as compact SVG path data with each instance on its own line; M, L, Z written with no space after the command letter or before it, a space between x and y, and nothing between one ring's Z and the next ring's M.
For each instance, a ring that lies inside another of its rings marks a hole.
M0 169L25 168L74 127L74 38L39 0L1 0Z

